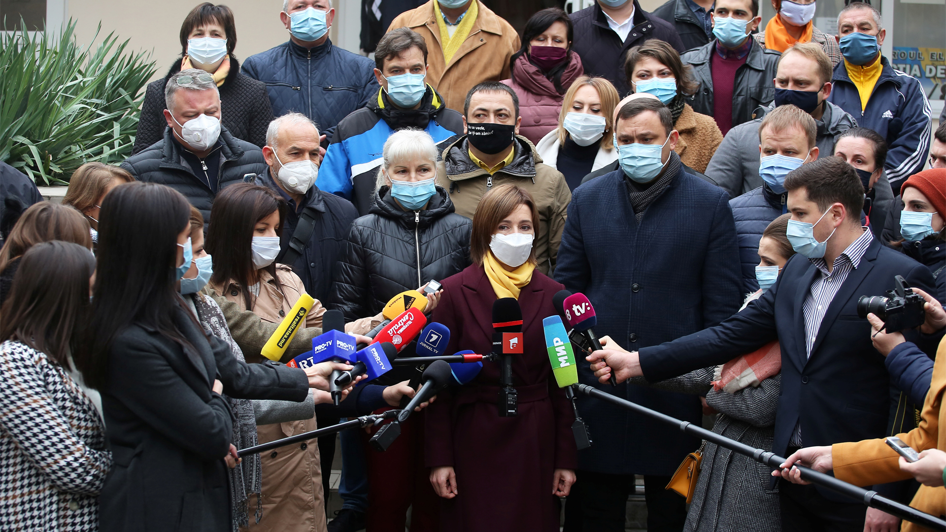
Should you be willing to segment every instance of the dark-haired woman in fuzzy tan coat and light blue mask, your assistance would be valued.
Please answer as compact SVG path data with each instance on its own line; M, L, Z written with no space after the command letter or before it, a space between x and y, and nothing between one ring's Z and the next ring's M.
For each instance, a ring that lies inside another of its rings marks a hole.
M674 151L680 161L702 173L723 142L723 133L712 116L696 113L685 102L697 89L690 68L680 61L680 54L673 46L658 39L627 50L624 61L624 74L631 90L660 98L674 115L674 129L680 133Z

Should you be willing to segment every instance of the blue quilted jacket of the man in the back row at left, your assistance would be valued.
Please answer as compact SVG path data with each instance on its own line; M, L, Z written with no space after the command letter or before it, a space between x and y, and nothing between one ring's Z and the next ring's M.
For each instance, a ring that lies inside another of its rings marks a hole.
M243 74L266 83L272 115L307 115L332 139L335 126L377 94L375 62L326 39L304 48L292 41L255 54L243 63Z

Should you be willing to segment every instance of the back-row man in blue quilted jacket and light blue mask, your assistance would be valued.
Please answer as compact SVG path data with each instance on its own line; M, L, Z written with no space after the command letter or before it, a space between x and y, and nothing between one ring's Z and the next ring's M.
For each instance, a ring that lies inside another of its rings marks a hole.
M266 83L273 116L307 115L331 140L342 118L377 95L375 63L328 39L331 0L283 0L279 18L289 42L247 58L243 74Z

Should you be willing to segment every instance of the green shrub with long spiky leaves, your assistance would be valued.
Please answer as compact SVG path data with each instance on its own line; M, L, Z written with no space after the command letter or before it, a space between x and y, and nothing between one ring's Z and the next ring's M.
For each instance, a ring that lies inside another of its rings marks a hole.
M113 33L90 53L75 27L69 21L61 36L0 32L0 161L38 185L64 184L91 161L128 157L141 89L155 72L149 55L125 55L128 41L118 44Z

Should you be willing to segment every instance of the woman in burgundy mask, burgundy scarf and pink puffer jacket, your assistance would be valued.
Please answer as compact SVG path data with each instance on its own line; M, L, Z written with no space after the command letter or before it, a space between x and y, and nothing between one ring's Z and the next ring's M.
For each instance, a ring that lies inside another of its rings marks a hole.
M519 134L533 144L558 126L565 92L585 73L581 58L571 51L572 37L568 13L542 9L529 18L522 47L509 58L510 79L502 82L516 91L522 117Z

